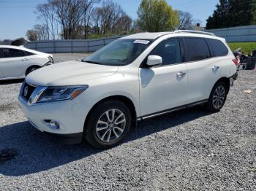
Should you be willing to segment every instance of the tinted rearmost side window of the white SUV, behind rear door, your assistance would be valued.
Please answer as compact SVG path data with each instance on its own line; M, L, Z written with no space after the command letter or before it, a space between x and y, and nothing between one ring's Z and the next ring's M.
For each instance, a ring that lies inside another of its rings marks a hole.
M213 57L227 55L228 50L223 42L216 39L207 39L211 47L211 55Z

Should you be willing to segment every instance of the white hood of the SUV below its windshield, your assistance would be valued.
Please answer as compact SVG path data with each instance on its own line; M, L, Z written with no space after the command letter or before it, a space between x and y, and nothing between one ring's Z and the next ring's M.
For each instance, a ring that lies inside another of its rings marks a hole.
M105 66L81 61L67 61L42 67L26 77L30 85L87 85L91 79L108 77L118 71L118 66Z

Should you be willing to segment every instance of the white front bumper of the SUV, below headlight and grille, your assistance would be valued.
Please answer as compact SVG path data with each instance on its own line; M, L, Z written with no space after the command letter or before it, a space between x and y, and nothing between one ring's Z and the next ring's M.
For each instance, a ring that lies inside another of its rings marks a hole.
M38 130L68 139L82 140L83 126L90 107L82 104L79 98L29 106L20 95L18 104L29 122ZM53 128L49 124L50 120L58 122L59 129Z

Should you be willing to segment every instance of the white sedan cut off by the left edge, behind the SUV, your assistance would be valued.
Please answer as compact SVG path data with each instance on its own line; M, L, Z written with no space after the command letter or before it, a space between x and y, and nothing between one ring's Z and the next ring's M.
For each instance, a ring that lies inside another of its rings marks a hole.
M23 79L31 71L53 63L53 55L25 47L0 45L0 80Z

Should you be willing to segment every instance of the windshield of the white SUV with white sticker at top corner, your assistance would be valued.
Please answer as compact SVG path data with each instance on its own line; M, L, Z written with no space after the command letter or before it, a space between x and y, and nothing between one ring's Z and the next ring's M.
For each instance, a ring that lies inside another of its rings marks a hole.
M83 62L124 66L135 61L149 44L151 41L145 39L118 39L83 59Z

